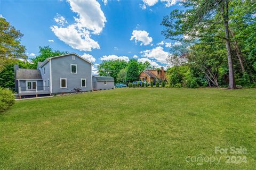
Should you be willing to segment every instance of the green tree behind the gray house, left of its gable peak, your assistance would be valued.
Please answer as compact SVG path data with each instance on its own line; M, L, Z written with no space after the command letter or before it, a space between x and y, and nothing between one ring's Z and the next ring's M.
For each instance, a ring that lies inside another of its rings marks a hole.
M68 52L61 52L60 50L53 50L50 46L39 47L39 55L34 58L30 58L33 64L31 69L37 69L37 62L43 62L48 57L54 57L58 55L68 54Z

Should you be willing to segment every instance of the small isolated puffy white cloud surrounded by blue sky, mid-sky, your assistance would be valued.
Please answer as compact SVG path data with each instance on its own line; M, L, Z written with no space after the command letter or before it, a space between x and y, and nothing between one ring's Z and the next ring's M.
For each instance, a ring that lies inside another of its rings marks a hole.
M135 40L135 43L137 43L137 41L141 41L141 46L142 45L149 45L152 41L153 38L148 36L149 33L147 31L141 31L141 30L133 30L132 31L132 36L130 40Z

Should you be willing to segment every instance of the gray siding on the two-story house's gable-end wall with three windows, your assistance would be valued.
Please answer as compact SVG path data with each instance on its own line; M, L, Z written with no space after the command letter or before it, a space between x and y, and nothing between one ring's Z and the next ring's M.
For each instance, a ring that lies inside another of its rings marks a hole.
M77 65L77 73L70 73L70 64ZM75 56L72 60L72 55L52 58L52 93L60 92L75 92L74 88L79 88L82 91L92 90L91 79L91 64ZM60 78L67 79L67 88L60 88ZM86 87L81 87L81 78L86 79Z

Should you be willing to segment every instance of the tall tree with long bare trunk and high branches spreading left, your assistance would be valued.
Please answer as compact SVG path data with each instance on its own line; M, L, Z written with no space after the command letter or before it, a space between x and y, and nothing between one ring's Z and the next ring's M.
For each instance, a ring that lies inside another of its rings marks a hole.
M207 39L225 42L229 68L228 89L236 89L229 36L229 3L229 0L183 1L188 10L174 10L170 16L165 16L162 24L165 26L163 34L166 38L193 43Z

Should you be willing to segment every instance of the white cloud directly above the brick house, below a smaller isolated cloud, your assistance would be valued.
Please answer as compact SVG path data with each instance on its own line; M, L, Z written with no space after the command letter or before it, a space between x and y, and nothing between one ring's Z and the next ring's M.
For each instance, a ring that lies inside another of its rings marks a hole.
M140 53L142 54L143 57L154 58L159 63L167 64L166 59L169 53L165 52L163 49L163 47L158 46L156 48L148 49Z

